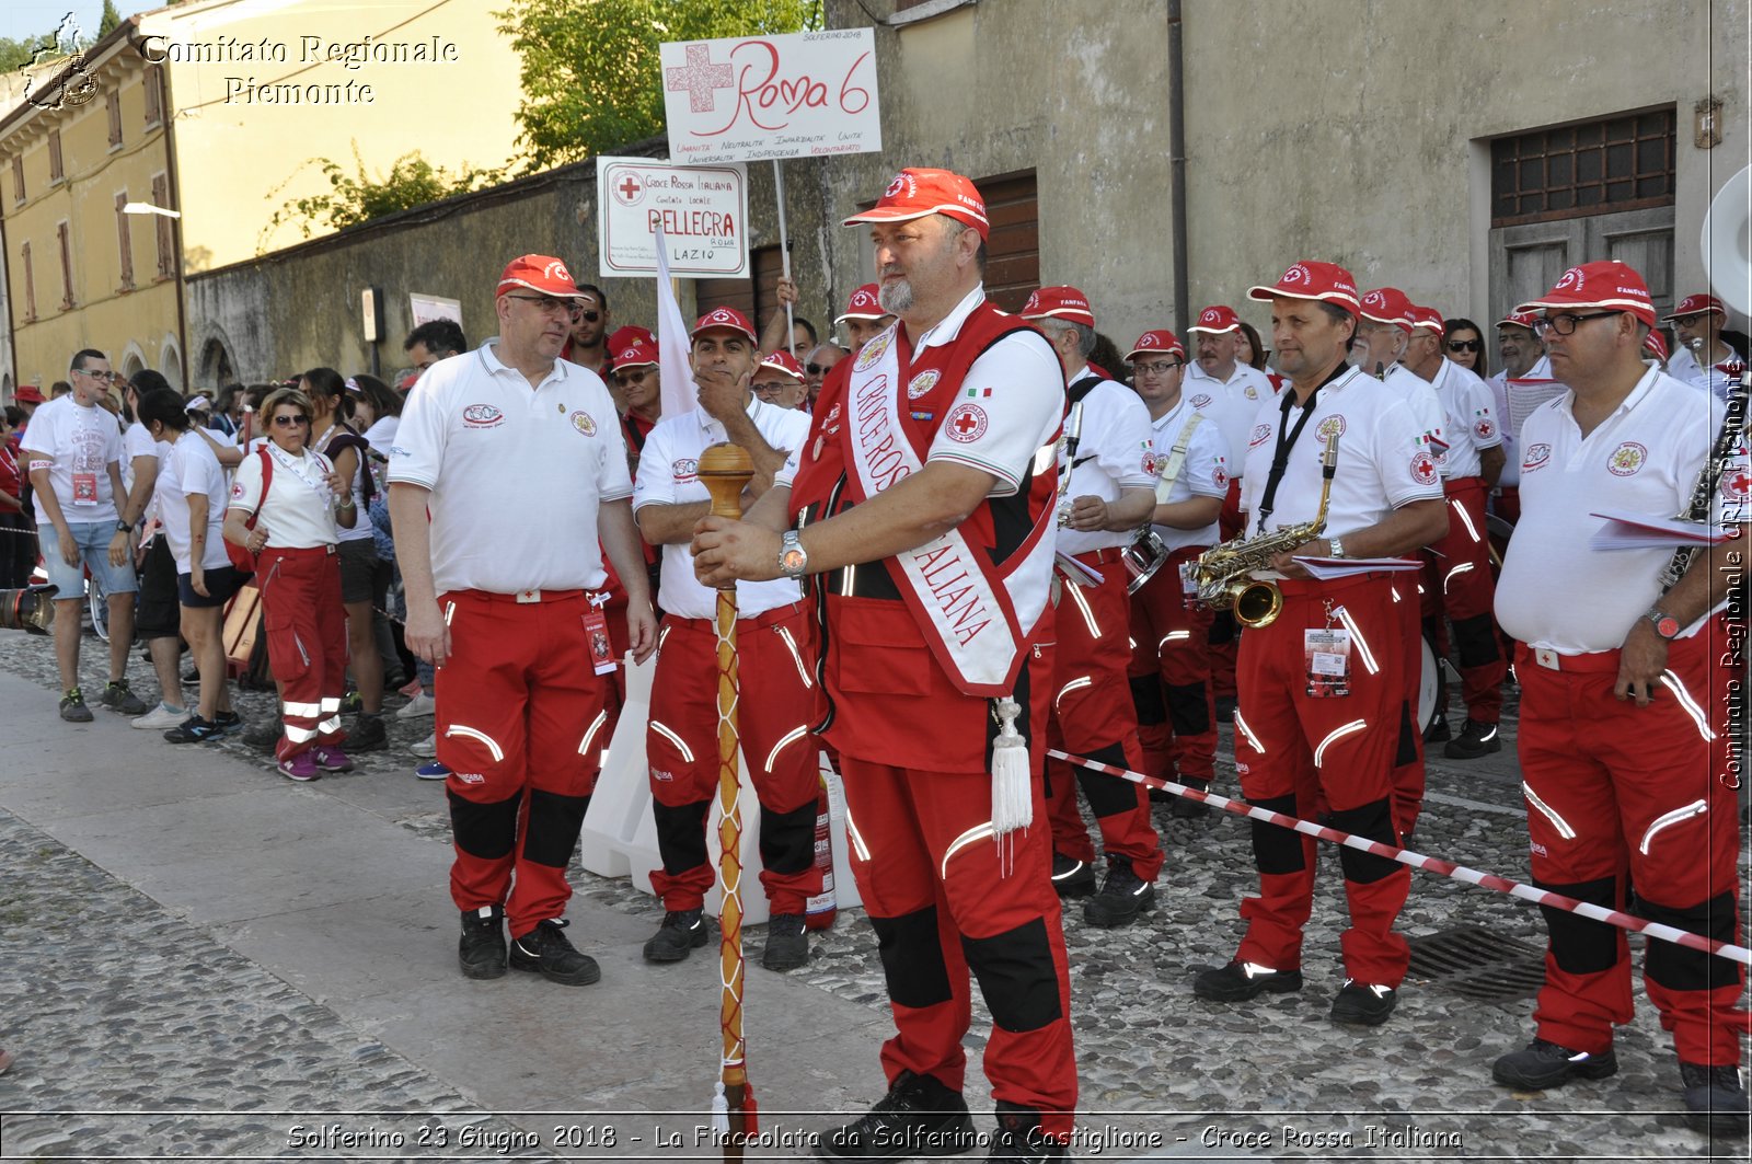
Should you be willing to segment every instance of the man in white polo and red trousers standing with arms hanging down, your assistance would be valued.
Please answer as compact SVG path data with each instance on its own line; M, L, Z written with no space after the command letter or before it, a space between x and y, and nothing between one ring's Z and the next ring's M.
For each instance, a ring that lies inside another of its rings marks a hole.
M601 549L627 587L634 657L657 645L613 403L594 372L559 359L576 302L562 261L513 259L498 337L426 372L389 459L408 649L440 668L470 978L505 973L506 920L512 968L568 985L601 976L561 917L613 691L613 659L592 647L606 626L585 598L604 582Z

